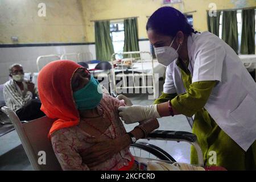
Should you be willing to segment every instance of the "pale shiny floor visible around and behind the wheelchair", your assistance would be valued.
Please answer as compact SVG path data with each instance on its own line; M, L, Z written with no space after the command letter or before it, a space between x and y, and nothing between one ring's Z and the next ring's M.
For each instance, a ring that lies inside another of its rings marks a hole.
M159 85L163 85L160 82ZM162 92L162 88L159 88ZM150 105L152 100L148 100L147 94L127 94L131 98L133 104ZM191 132L191 127L188 125L187 119L178 115L175 117L165 117L159 119L159 130L179 130ZM137 124L125 125L126 130L130 131ZM178 162L189 163L190 158L190 144L184 142L170 142L164 140L140 140L149 142L167 151ZM30 162L24 152L23 147L20 145L20 140L16 131L0 137L0 170L32 170Z

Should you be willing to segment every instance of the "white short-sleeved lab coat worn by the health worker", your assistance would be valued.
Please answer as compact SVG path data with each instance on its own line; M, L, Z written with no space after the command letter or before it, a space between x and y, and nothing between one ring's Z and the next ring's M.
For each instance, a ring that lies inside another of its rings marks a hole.
M210 32L188 37L192 82L218 81L205 105L217 125L243 150L256 140L256 83L223 40ZM176 61L168 65L164 93L185 93Z

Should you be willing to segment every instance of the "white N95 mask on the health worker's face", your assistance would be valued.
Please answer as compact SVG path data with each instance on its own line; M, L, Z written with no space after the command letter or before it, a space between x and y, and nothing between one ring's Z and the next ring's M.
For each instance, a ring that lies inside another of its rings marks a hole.
M169 47L165 46L165 47L155 48L155 55L156 55L156 59L158 59L158 63L164 65L165 67L167 67L169 64L171 64L173 61L175 61L179 57L177 51L180 48L180 44L177 50L171 47L172 44L174 43L174 40L172 40L172 43Z

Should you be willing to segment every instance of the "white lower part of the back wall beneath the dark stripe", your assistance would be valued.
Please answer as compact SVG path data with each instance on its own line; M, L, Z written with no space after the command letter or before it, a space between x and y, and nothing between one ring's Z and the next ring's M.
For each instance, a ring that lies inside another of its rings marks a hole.
M148 40L139 42L140 51L150 52L150 42ZM96 59L95 44L78 46L42 46L42 47L11 47L0 48L0 84L5 83L9 77L9 66L14 63L23 65L25 72L38 72L36 59L42 55L76 52L91 52L93 60ZM143 57L143 59L148 59Z

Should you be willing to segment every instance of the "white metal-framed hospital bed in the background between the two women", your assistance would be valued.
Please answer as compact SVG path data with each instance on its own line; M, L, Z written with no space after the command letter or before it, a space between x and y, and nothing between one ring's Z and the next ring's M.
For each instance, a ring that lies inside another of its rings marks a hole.
M116 60L115 57L127 57ZM139 56L138 56L139 55ZM147 55L147 56L144 56ZM143 57L149 57L145 60ZM154 61L150 52L134 51L121 52L112 55L112 72L110 75L110 90L115 93L124 93L131 89L147 89L152 91L152 99L156 99L158 92L159 74L162 77L165 68ZM161 71L162 68L162 71ZM158 72L155 72L155 71ZM119 81L119 82L118 82ZM122 90L122 91L121 91Z

